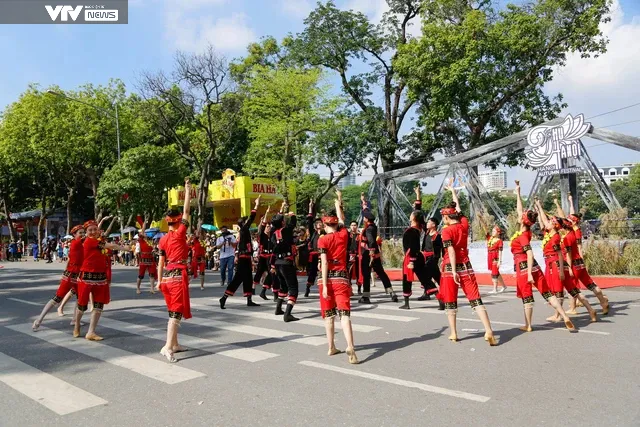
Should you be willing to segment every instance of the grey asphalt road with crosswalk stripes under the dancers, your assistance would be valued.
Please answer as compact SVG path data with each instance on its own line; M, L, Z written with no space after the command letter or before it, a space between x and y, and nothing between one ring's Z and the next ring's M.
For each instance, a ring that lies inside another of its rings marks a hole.
M180 329L191 350L168 364L158 353L164 301L148 284L135 294L133 268L114 268L104 341L74 340L70 317L55 312L31 332L62 269L0 269L2 427L640 425L640 293L628 289L607 291L612 310L596 324L582 309L574 334L546 323L551 310L539 295L528 334L517 329L522 304L513 290L485 296L500 342L489 347L463 298L462 340L451 343L436 302L399 310L378 284L374 305L353 301L361 364L349 365L344 354L326 355L317 293L296 306L304 320L285 324L273 301L248 308L236 296L220 310L223 288L207 273L204 291L192 284L194 317ZM344 349L340 329L336 342Z

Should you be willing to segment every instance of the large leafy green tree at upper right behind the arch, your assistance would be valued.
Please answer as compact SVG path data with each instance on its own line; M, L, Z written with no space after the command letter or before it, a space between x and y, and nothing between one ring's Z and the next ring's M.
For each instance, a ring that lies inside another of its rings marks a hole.
M567 54L598 56L609 0L423 2L422 36L393 61L419 101L419 154L455 154L556 117L562 96L544 93ZM511 164L519 155L510 156ZM517 162L516 162L517 163Z

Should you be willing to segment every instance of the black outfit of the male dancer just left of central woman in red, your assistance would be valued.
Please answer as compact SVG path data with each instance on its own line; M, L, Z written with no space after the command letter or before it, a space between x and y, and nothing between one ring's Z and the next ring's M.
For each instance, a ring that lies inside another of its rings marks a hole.
M280 282L280 292L278 302L288 296L289 302L295 304L298 300L298 276L296 273L296 244L293 230L296 228L297 218L295 215L289 217L289 221L283 220L278 224L280 228L274 227L271 231L271 244L273 256L271 266L276 269L278 281Z

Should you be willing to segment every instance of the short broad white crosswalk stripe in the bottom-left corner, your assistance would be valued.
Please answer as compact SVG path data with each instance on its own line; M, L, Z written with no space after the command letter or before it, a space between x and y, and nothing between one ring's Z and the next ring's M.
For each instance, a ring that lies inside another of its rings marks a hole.
M4 353L0 353L0 381L58 415L109 403Z

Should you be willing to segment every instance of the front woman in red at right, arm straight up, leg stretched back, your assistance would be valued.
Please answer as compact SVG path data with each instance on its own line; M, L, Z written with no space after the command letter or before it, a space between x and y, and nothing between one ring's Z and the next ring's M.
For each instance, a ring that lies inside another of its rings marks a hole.
M516 271L517 280L517 296L522 299L524 304L524 320L525 325L520 328L521 331L531 332L531 319L533 317L533 286L538 289L540 295L551 304L553 308L564 319L564 324L570 331L575 331L575 327L571 319L564 312L558 298L551 291L540 270L540 266L533 258L533 250L531 249L531 227L538 220L538 214L531 210L522 208L522 197L520 196L520 182L516 181L516 197L518 218L520 223L520 231L511 237L511 253L513 253L514 269Z

